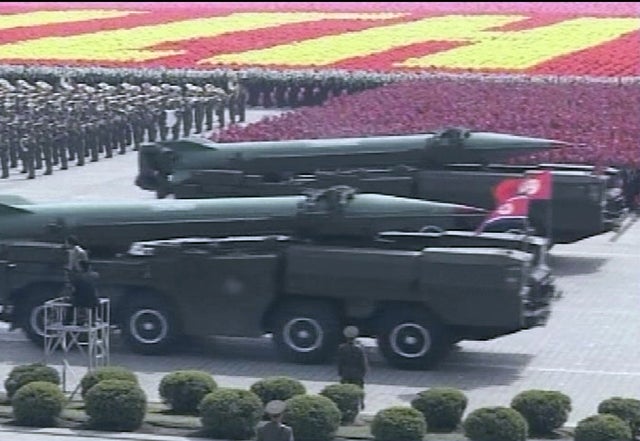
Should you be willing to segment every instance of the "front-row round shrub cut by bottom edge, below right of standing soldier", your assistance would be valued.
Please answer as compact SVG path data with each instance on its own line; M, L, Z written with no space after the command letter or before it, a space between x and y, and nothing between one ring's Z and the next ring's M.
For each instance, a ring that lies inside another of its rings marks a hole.
M427 423L418 410L395 406L381 410L373 418L371 434L375 441L419 441L427 432Z

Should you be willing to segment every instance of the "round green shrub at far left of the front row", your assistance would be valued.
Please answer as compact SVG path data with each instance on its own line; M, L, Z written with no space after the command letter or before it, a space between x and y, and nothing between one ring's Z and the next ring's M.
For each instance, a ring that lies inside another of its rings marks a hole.
M64 408L66 398L51 382L33 381L22 386L13 396L13 416L23 426L54 426Z

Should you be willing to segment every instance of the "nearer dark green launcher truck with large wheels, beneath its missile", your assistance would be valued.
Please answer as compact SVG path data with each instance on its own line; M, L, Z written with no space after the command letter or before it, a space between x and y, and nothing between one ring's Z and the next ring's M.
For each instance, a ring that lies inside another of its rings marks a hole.
M347 325L400 368L428 368L460 340L549 316L548 241L518 233L387 231L359 244L282 235L176 238L92 259L112 322L135 351L184 336L260 337L298 363L331 357ZM0 318L41 342L43 302L64 286L60 244L0 244ZM464 277L461 277L464 275Z

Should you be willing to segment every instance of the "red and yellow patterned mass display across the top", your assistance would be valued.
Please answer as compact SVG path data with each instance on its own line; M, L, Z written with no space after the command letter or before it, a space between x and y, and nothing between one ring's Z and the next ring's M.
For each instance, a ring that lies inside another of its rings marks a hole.
M4 3L0 64L638 76L638 12L639 3Z

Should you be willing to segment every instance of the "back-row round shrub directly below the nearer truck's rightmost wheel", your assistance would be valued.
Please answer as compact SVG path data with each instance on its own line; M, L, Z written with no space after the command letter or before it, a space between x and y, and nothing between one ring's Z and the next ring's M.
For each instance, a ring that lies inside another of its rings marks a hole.
M451 432L460 425L467 396L458 389L436 387L418 393L411 407L420 411L430 432Z

